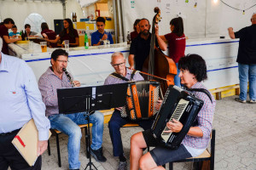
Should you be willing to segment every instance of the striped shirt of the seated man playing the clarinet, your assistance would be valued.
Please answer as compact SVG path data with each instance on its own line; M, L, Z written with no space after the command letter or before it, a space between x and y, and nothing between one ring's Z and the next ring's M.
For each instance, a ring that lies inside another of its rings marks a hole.
M59 114L57 88L72 88L66 74L63 73L61 80L49 67L39 78L38 86L46 105L46 116Z

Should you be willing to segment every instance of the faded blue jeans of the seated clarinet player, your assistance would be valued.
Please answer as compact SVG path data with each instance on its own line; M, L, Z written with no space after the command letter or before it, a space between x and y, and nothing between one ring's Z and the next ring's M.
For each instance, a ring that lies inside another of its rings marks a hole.
M58 114L49 116L50 127L61 131L68 135L67 152L68 152L68 164L70 169L79 169L79 151L80 140L82 137L79 124L87 124L85 120L84 112L73 114ZM102 133L104 116L101 112L96 111L90 115L90 123L92 123L92 144L90 145L92 150L98 150L102 147Z

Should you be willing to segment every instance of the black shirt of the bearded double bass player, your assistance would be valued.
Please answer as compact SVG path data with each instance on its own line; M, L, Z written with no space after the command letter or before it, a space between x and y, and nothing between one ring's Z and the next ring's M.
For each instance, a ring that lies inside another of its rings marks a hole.
M147 59L150 51L150 41L151 41L151 33L149 33L149 37L147 40L143 39L141 37L141 34L139 34L131 42L130 54L134 54L135 70L137 71L143 71L144 61L145 59ZM159 47L156 38L155 38L155 45Z

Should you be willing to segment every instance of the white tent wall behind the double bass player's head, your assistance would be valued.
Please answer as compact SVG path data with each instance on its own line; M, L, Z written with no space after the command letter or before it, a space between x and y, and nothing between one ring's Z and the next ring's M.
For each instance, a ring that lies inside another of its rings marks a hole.
M170 20L177 17L177 14L183 17L184 32L189 38L201 37L228 37L227 28L232 26L238 31L244 26L250 26L251 16L256 12L256 6L248 9L245 14L242 11L227 7L218 0L184 0L171 1L160 0L134 0L135 5L132 8L131 0L122 0L124 12L125 34L127 31L133 31L132 26L136 19L147 18L152 23L154 17L154 7L161 9L162 20L160 22L160 34L166 34L170 31ZM235 8L249 8L253 6L255 0L224 0ZM197 3L196 8L194 7ZM126 36L125 36L126 37Z

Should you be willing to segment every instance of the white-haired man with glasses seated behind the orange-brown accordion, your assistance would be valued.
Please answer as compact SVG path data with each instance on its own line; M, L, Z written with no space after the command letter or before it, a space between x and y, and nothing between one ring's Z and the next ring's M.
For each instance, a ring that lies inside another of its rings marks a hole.
M125 67L125 57L120 52L115 52L111 56L111 65L115 72L110 74L104 84L117 84L124 82L136 82L143 81L143 77L138 73L138 71L132 71ZM125 96L124 96L125 98ZM121 107L115 108L113 115L108 122L109 133L111 141L113 144L113 156L119 156L119 170L125 170L127 167L126 158L124 156L123 144L121 139L120 127L131 122L128 118L123 118L120 115ZM152 125L152 120L145 120L136 122L143 129L149 129Z

